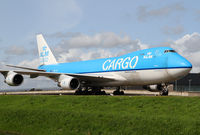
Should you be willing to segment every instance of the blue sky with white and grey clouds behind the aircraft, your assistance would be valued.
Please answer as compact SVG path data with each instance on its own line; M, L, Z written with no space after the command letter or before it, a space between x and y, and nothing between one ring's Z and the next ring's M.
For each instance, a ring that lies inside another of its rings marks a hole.
M0 0L0 66L37 67L35 36L42 33L59 62L171 46L199 72L199 5L199 0ZM55 85L28 82L22 87Z

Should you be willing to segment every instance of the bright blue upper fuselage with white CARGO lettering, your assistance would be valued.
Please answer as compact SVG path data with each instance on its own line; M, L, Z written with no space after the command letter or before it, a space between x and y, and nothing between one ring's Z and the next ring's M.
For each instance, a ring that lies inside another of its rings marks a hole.
M119 57L39 67L47 72L77 74L175 68L192 68L192 64L170 47L145 49Z

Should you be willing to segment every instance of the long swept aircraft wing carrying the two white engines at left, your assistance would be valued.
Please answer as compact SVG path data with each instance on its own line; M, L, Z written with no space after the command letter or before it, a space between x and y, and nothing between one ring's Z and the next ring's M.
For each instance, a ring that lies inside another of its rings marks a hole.
M6 75L8 70L0 70L0 73ZM72 74L72 73L55 73L55 72L36 72L36 71L13 71L22 75L30 75L30 78L36 78L38 76L45 76L51 79L57 80L60 75L67 75L71 77L75 77L81 81L92 81L92 82L104 82L104 81L114 81L113 76L99 76L93 74Z

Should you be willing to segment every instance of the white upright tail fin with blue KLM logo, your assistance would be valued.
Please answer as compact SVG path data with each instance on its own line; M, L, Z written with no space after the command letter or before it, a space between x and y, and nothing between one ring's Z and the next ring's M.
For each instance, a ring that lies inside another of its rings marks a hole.
M37 44L40 57L40 65L57 64L57 61L42 34L37 35Z

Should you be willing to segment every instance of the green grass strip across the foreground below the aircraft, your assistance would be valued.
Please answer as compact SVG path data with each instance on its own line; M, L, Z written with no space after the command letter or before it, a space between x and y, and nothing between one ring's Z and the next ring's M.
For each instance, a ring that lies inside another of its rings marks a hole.
M0 96L0 135L200 134L200 98Z

